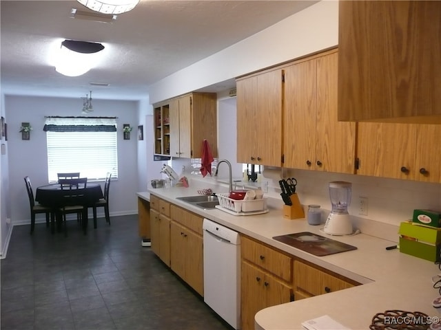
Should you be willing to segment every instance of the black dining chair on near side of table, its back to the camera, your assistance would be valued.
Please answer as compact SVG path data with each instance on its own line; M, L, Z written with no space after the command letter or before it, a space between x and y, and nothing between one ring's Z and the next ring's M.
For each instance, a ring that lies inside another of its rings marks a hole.
M84 233L87 230L86 223L83 223L83 214L87 214L87 204L83 189L88 184L87 177L76 179L59 179L61 190L65 190L63 194L63 206L60 211L63 214L63 225L65 236L68 236L68 228L66 223L66 214L76 213L76 219L83 225Z

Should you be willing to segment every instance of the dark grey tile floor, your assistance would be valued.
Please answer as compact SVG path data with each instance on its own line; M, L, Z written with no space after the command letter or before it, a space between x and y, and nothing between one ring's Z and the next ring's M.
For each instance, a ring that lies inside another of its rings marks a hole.
M150 250L136 215L68 237L15 226L1 260L1 330L228 329Z

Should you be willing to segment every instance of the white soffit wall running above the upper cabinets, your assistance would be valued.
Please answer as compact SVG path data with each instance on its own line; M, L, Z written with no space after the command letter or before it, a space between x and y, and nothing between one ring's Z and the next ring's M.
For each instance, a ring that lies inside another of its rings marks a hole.
M320 1L150 86L152 103L338 44L338 1Z

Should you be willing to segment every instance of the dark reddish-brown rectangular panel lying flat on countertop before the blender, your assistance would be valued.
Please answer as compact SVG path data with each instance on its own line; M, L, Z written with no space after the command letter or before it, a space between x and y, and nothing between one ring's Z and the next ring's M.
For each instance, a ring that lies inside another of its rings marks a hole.
M312 232L296 232L294 234L274 236L273 239L293 248L314 254L314 256L329 256L329 254L357 250L356 246L328 239Z

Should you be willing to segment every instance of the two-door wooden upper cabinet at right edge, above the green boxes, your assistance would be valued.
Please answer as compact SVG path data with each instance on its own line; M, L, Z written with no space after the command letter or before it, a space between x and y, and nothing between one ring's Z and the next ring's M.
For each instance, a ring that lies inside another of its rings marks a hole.
M358 123L357 174L441 182L441 125Z

